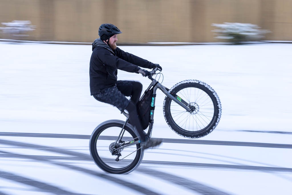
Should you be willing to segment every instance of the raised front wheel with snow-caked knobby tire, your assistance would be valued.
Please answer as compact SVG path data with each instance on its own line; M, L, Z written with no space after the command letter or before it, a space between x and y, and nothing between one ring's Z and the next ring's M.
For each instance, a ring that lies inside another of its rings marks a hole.
M212 132L221 117L221 102L217 93L208 84L198 80L185 80L175 84L170 94L188 103L191 111L165 97L164 118L177 134L188 138L199 138Z

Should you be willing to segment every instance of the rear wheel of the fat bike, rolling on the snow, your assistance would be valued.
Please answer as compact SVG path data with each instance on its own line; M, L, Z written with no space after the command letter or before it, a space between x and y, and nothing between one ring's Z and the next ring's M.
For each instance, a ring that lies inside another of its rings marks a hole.
M138 168L142 161L144 150L133 126L127 123L118 139L124 123L108 120L98 125L91 134L91 158L105 172L126 174Z

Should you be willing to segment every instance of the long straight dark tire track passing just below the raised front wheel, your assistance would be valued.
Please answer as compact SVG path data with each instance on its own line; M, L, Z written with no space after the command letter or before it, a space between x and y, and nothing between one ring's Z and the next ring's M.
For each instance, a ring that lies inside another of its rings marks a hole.
M70 138L70 139L90 139L90 135L74 135L74 134L49 134L49 133L11 133L0 132L0 136L15 137L48 137L48 138ZM100 136L101 139L116 140L116 136ZM194 139L163 139L163 143L175 144L205 144L205 145L221 145L221 146L249 146L249 147L265 147L265 148L292 148L292 144L270 144L257 142L242 141L213 141L213 140L194 140Z

